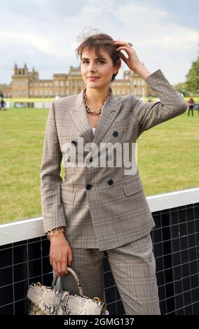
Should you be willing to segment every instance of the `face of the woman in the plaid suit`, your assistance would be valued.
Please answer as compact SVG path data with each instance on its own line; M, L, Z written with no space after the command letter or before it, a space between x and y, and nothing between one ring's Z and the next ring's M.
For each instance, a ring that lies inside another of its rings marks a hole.
M111 83L113 74L118 67L113 66L111 57L107 52L100 50L102 57L95 55L95 50L85 49L81 55L81 75L86 87L104 89ZM90 77L96 78L90 78Z

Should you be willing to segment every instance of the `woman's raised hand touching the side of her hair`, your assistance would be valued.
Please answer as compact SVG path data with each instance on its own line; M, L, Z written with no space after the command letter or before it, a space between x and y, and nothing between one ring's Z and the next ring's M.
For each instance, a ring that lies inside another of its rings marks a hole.
M140 62L137 53L135 52L135 50L128 44L128 42L124 42L124 41L117 41L114 40L114 43L116 45L119 45L119 48L117 48L117 51L119 52L119 55L121 57L121 59L123 59L123 61L125 62L125 64L128 65L128 67L132 70L132 71L137 71L140 69L140 67L143 66L142 62ZM123 55L123 53L120 50L125 50L125 52L127 52L128 54L128 58L125 57L125 55Z

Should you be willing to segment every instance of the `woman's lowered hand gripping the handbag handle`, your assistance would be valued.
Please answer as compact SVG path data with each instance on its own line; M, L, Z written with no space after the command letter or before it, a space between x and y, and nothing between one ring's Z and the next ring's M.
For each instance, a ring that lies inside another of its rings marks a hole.
M67 274L67 266L73 261L71 247L64 233L50 237L50 264L57 276Z

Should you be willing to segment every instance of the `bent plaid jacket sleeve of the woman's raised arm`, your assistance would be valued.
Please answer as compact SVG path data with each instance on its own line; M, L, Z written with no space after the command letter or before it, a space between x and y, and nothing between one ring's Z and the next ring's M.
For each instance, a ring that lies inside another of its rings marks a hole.
M145 81L155 92L160 102L144 103L135 95L131 96L131 113L139 122L139 135L159 123L179 116L187 109L186 102L181 94L174 90L160 69L151 73Z

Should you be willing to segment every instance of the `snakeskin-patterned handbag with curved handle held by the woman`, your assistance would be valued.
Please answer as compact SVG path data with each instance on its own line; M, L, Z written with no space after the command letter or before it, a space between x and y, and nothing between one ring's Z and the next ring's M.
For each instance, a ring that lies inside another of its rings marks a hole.
M72 295L68 291L55 288L57 276L52 286L32 283L27 290L27 297L31 301L29 315L101 315L106 312L106 304L98 297L93 299L83 295L83 289L74 269L67 267L74 276L79 295Z

